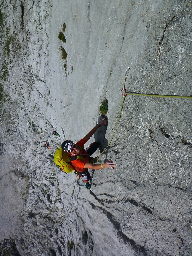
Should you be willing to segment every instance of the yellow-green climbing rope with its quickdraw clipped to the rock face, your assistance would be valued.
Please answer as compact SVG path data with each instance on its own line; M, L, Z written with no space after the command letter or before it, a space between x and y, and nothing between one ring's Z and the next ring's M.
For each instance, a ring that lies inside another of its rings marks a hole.
M129 73L129 70L130 68L128 68L126 70L126 73L125 73L125 79L124 79L124 82L123 82L123 88L121 89L121 94L123 96L123 101L122 101L122 104L121 104L121 109L120 109L120 112L119 112L119 117L118 117L118 120L117 120L117 123L115 125L115 129L114 129L114 132L113 132L113 135L112 135L112 138L109 142L109 144L107 145L107 147L103 150L103 152L101 152L100 155L98 155L97 157L95 157L95 159L97 160L97 163L99 162L98 158L107 150L107 148L109 147L109 145L111 144L111 141L115 135L115 131L116 131L116 128L117 128L117 125L119 123L119 120L120 120L120 117L121 117L121 111L122 111L122 108L123 108L123 103L124 103L124 100L125 100L125 97L127 95L138 95L138 96L150 96L150 97L164 97L164 98L186 98L186 99L192 99L192 95L190 96L182 96L182 95L159 95L159 94L147 94L147 93L132 93L132 92L127 92L127 90L125 89L125 82L126 82L126 79L127 79L127 76L128 76L128 73Z

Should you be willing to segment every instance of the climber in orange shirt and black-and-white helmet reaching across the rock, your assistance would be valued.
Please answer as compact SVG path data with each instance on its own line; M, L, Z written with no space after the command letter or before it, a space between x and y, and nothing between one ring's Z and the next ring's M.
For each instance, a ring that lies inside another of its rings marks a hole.
M91 180L88 169L101 170L103 168L115 168L115 164L112 160L108 160L104 164L94 164L92 157L90 157L99 147L99 142L91 143L85 150L85 143L91 138L91 136L97 131L100 126L106 125L107 120L103 117L99 120L99 123L80 141L73 143L71 140L66 140L62 143L61 148L63 151L71 155L71 163L77 171L77 175L82 177L83 183L87 189L91 188L89 180Z

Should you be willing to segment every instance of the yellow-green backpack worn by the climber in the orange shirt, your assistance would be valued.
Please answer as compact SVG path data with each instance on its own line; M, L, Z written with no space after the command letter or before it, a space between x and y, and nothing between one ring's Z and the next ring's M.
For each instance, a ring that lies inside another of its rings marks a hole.
M58 148L55 152L54 162L57 167L61 168L62 172L74 172L75 168L69 161L69 154L64 152L62 148Z

